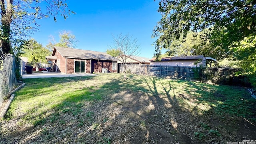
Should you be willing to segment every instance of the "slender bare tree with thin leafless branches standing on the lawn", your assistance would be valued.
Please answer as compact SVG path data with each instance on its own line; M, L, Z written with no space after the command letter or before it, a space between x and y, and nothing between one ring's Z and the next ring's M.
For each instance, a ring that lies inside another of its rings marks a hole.
M117 36L113 36L113 46L110 46L110 48L118 50L118 58L123 64L124 79L126 80L127 59L130 56L137 56L139 54L140 44L138 44L136 38L133 38L129 34L123 35L121 33Z

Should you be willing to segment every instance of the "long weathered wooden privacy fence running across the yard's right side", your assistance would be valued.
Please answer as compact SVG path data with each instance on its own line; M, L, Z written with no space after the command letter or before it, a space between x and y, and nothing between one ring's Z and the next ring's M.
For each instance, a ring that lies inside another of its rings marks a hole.
M126 65L127 73L143 74L149 76L166 76L183 80L211 80L216 84L248 86L244 76L235 76L236 68L201 68L189 66L163 66L163 65ZM124 71L124 65L119 65L119 72Z

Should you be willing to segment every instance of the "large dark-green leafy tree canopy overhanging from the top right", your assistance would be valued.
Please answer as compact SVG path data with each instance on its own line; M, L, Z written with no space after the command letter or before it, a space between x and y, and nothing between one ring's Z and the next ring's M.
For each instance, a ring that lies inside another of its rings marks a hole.
M155 56L191 30L213 30L211 46L226 51L233 42L256 33L256 0L160 0L161 20L154 27Z

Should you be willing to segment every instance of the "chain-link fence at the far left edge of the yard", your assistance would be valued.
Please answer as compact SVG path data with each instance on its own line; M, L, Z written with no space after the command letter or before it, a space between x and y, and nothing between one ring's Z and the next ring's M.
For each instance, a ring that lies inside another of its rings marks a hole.
M0 52L0 106L2 106L4 97L8 96L17 84L15 68L14 56Z

